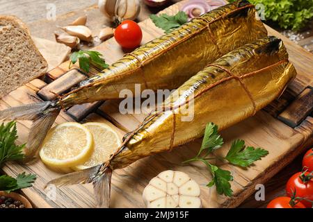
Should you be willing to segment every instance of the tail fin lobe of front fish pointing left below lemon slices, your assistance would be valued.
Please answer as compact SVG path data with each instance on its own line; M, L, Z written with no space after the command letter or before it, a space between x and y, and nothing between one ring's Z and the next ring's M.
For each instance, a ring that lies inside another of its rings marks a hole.
M81 183L92 182L92 179L97 175L102 165L83 169L74 173L67 173L54 180L50 180L45 188L49 185L56 185L56 187L63 187L68 185L77 185Z

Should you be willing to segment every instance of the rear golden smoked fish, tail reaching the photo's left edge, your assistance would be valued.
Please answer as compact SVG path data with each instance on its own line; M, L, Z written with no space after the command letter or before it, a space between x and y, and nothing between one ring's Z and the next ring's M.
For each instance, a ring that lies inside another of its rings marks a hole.
M144 44L55 101L2 110L0 119L33 121L25 148L26 160L31 160L62 108L118 99L122 89L134 92L135 84L141 89L175 89L209 62L266 35L255 7L239 0Z

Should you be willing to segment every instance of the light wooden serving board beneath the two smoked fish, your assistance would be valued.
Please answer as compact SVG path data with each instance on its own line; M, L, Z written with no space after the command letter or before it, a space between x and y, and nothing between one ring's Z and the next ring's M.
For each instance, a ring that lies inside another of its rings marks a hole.
M166 8L163 12L175 14L181 4L182 2L179 2ZM143 43L163 34L163 31L155 27L150 19L141 22L140 25L143 29ZM225 146L220 148L218 154L225 154L232 140L239 138L244 139L248 145L259 146L269 151L268 156L256 162L249 169L216 162L223 169L232 171L234 196L232 198L218 196L215 187L206 187L205 185L211 180L211 176L202 164L182 165L182 161L198 153L201 144L201 139L198 139L175 148L171 152L146 157L125 169L114 171L111 207L144 207L141 198L144 187L151 178L168 169L184 171L200 184L203 207L236 207L255 191L255 185L264 184L302 153L305 148L312 146L313 118L310 114L312 114L313 100L313 56L300 46L287 40L280 33L267 28L270 35L276 35L284 40L290 60L298 71L298 76L280 99L268 105L264 110L257 112L255 117L250 117L222 132ZM94 50L103 53L106 62L109 63L118 60L125 53L113 39L99 44ZM0 101L0 109L35 103L42 98L47 99L48 97L45 96L51 96L49 91L65 92L69 87L72 87L72 81L86 78L75 69L67 71L68 62L65 62L60 67L49 71L44 78L45 81L35 79L11 92ZM49 98L51 99L51 97ZM75 105L66 113L61 112L56 123L74 121L75 119L79 121L82 119L83 122L106 122L117 128L122 136L127 131L136 128L144 117L145 113L120 114L118 101L105 101ZM26 142L30 127L30 121L18 122L19 143ZM8 163L3 171L11 176L16 176L17 173L23 171L38 175L33 187L22 190L35 207L95 207L92 185L63 187L56 189L56 196L47 197L47 194L51 194L51 190L45 190L45 184L63 173L51 171L40 160L26 165Z

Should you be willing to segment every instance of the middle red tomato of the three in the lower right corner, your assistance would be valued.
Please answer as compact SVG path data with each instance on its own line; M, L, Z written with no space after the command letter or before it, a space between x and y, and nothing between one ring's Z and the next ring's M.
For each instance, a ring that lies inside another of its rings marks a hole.
M309 173L305 173L307 176ZM294 192L296 192L296 196L301 198L307 198L308 200L313 200L313 179L303 182L300 179L301 172L295 173L294 176L288 180L286 185L286 193L287 196L293 196ZM312 203L306 200L301 200L306 207L312 207Z

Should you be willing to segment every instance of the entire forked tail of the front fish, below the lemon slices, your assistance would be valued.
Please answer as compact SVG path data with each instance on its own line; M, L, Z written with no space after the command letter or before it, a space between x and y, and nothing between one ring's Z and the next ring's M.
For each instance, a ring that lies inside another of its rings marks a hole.
M51 180L49 185L63 187L67 185L76 185L93 182L94 195L97 200L97 207L109 207L111 197L111 176L112 169L103 164L90 167L82 171L65 174L59 178Z

